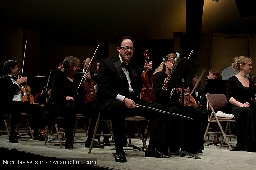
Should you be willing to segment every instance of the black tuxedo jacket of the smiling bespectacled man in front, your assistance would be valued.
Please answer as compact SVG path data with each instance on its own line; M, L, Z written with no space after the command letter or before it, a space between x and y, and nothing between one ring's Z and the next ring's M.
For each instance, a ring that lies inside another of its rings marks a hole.
M117 94L130 98L131 96L138 97L141 82L141 75L139 68L129 62L129 76L131 79L131 86L134 93L130 94L129 84L127 78L121 68L121 61L119 57L107 58L101 60L98 72L98 91L96 93L96 106L99 109L104 109L109 103L116 100Z

